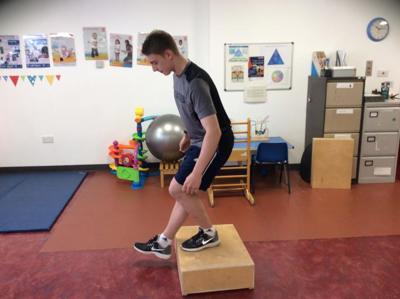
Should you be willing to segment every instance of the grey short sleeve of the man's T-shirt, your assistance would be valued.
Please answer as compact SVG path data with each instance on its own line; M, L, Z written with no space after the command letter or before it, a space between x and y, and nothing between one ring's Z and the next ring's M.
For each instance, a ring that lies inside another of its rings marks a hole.
M216 114L214 103L210 94L210 87L202 79L194 79L190 83L190 99L193 103L193 109L199 119Z

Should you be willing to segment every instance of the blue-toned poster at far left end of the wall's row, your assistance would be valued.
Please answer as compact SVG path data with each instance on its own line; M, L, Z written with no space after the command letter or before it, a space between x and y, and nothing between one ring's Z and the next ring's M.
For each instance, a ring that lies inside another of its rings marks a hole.
M22 68L18 35L0 35L0 68Z

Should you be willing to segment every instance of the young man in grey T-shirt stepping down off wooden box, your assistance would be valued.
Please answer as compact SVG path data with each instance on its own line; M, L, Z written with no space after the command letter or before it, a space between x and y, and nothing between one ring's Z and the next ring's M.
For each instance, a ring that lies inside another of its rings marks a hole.
M169 221L160 235L133 248L159 258L171 256L171 243L188 215L199 224L196 235L182 243L186 251L218 246L218 233L198 195L206 191L233 148L233 133L228 115L210 76L178 51L170 34L151 32L143 43L153 71L165 76L174 73L174 96L186 131L179 147L185 152L181 166L172 179L169 193L175 199Z

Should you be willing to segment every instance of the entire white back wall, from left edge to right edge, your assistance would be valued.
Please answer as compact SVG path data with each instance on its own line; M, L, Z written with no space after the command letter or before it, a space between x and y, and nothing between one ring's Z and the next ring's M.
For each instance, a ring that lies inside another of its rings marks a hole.
M0 81L0 167L102 164L107 146L126 142L135 131L133 111L147 115L177 113L172 78L150 68L96 69L83 58L82 27L105 26L107 33L132 34L161 28L188 35L189 56L210 72L234 119L270 115L271 135L295 145L291 163L300 160L304 143L307 76L311 53L336 49L348 52L348 63L365 71L365 61L389 70L400 87L400 4L396 0L353 1L240 1L240 0L36 0L2 1L0 34L70 32L76 37L76 67L0 70L0 75L61 74L53 86ZM368 21L383 16L390 22L389 37L373 43L366 37ZM223 91L223 45L227 42L293 41L293 88L269 92L265 104L250 105L240 92ZM134 45L135 46L135 45ZM135 54L134 57L135 59ZM379 86L367 79L367 91ZM42 144L54 135L54 144Z

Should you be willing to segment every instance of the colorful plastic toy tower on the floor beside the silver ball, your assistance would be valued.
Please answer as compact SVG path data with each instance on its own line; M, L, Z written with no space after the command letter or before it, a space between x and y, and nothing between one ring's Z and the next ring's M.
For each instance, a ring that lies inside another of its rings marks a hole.
M132 189L142 189L149 168L146 167L146 150L143 149L143 141L146 134L142 131L142 123L153 120L156 116L145 116L144 109L135 109L136 133L132 135L129 145L120 144L117 140L108 147L108 154L114 159L109 167L111 172L121 180L132 182Z

